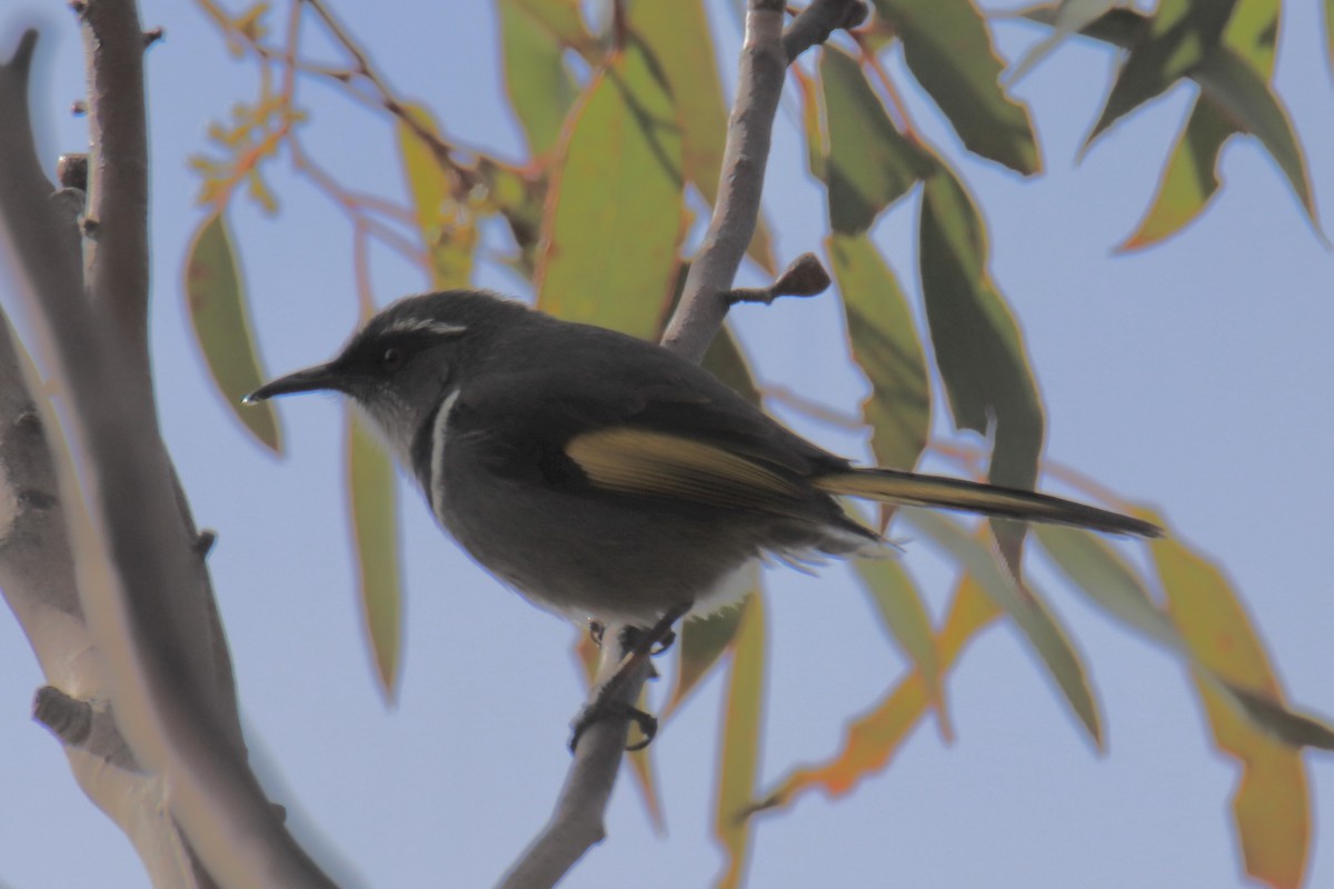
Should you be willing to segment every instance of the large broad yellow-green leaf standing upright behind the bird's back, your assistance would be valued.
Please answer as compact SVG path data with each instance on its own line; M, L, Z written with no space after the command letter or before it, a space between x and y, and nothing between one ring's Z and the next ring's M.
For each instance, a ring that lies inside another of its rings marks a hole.
M543 223L539 307L651 339L675 289L684 232L671 95L631 40L574 115Z

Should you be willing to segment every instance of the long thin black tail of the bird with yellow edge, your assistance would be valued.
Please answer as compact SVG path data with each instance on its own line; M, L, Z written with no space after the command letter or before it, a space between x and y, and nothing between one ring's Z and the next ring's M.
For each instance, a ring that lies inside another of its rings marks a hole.
M1158 525L1107 509L1033 490L986 485L963 478L924 476L895 469L847 469L812 481L815 486L832 494L866 497L904 506L960 509L1021 521L1075 525L1113 534L1161 537L1163 533Z

